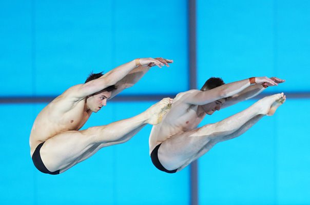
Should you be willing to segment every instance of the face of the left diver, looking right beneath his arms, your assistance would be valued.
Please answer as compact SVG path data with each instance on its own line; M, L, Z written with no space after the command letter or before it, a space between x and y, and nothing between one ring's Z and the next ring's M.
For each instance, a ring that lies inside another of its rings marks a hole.
M111 91L100 91L87 98L87 108L92 112L98 112L107 105L107 99L111 97Z

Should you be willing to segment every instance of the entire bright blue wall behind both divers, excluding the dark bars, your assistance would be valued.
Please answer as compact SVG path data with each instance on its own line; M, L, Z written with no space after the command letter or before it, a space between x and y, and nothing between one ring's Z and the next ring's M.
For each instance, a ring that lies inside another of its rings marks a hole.
M198 87L210 76L286 79L266 92L310 92L309 1L197 1ZM187 1L0 1L0 97L53 96L137 57L175 60L152 68L123 95L188 89ZM207 117L219 121L248 100ZM84 126L136 115L153 101L108 103ZM308 99L288 99L243 136L199 160L200 204L309 204ZM189 169L151 164L146 126L67 172L38 172L29 153L46 104L0 104L1 204L189 204Z

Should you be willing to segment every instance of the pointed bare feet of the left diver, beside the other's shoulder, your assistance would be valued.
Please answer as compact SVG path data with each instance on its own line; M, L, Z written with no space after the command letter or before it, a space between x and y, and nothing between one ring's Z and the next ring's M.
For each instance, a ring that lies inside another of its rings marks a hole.
M159 101L157 104L152 105L146 110L149 116L147 123L150 125L159 124L162 121L163 116L171 109L171 104L172 99L167 97Z

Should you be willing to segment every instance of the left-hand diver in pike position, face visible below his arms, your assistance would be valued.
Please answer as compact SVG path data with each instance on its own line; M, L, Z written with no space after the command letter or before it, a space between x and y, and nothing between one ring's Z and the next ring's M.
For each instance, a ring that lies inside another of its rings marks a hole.
M85 84L57 96L37 115L31 130L30 154L35 167L47 174L63 173L103 147L128 141L146 124L158 124L172 99L164 98L137 116L80 130L108 99L133 86L152 66L168 63L172 60L138 58L104 75L91 74Z

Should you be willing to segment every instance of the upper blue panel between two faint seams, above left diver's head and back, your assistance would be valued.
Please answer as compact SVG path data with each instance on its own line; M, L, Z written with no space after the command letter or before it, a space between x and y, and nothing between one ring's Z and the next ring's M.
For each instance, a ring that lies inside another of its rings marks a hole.
M111 64L111 1L35 1L36 94L57 95Z

